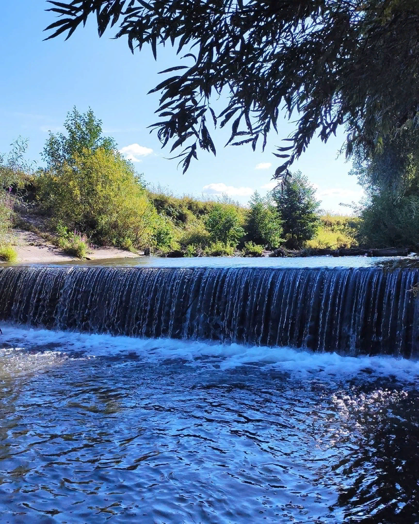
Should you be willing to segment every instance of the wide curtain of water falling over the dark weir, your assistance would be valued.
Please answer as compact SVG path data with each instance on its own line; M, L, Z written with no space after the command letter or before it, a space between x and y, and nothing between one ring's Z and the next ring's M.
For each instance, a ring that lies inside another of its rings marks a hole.
M415 357L417 269L0 269L0 319L59 330Z

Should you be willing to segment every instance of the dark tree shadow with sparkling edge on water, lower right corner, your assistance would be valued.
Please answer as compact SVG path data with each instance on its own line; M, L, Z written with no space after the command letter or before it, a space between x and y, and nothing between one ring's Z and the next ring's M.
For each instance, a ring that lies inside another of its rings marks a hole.
M332 466L346 479L336 505L345 522L419 522L418 400L417 391L383 389L352 399L358 446Z

